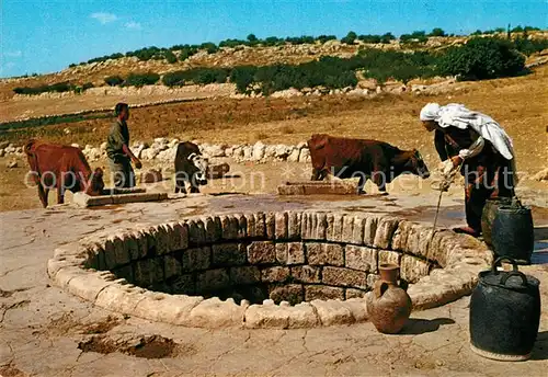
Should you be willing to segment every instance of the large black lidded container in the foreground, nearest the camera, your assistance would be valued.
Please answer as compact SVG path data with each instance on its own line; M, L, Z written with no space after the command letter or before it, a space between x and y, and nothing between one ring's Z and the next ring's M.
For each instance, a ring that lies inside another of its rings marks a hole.
M502 261L513 271L498 271ZM470 346L488 358L525 361L530 357L540 321L539 281L517 271L510 258L499 258L479 274L470 298Z

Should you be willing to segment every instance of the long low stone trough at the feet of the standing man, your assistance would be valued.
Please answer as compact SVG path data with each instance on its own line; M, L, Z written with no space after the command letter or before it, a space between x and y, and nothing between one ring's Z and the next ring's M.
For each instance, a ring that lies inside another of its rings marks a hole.
M138 203L164 201L168 193L147 193L146 188L104 188L102 195L90 196L78 192L72 197L72 203L79 207L94 207L110 204Z

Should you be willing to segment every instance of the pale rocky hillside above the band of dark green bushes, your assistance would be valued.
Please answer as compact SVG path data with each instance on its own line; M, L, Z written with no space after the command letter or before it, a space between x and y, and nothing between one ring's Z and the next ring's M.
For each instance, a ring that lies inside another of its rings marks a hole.
M496 35L496 34L492 34ZM548 38L548 31L532 32L528 36L532 39ZM235 67L242 65L265 66L273 64L300 64L318 59L322 56L335 56L347 58L355 55L359 48L369 47L378 49L392 49L411 52L439 50L450 46L465 44L469 37L429 37L423 44L402 44L398 39L389 44L366 44L356 39L355 44L345 44L336 39L326 43L316 42L313 44L263 47L258 46L236 46L220 47L216 53L209 54L207 50L199 50L197 54L176 62L168 62L165 59L139 60L139 58L121 57L106 59L91 64L72 66L60 72L0 80L0 99L5 100L14 95L13 88L36 87L68 81L82 84L91 82L95 87L104 85L104 79L109 76L127 76L130 72L157 72L163 75L170 71L185 70L195 67ZM180 55L180 52L174 52ZM179 56L180 58L180 56Z

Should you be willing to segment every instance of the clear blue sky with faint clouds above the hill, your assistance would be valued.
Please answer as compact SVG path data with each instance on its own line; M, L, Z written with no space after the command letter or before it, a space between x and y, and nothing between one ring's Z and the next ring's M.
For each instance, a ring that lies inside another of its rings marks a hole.
M548 26L548 0L0 0L0 77L147 46L267 36L399 36Z

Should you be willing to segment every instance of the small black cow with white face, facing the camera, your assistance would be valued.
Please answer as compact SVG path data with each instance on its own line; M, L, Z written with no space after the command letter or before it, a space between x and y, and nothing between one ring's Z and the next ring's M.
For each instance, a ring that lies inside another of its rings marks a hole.
M191 193L199 193L199 185L207 184L208 161L202 156L194 142L180 142L175 155L175 193L186 193L186 183Z

